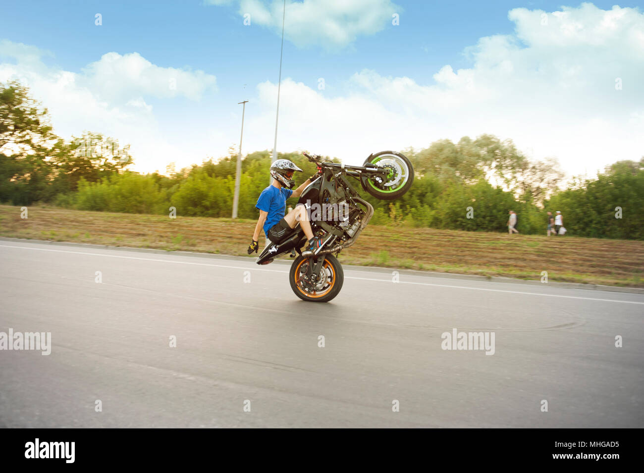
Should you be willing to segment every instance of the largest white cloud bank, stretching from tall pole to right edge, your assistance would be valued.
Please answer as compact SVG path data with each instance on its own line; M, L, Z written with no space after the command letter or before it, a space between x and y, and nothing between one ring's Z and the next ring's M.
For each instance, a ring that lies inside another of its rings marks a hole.
M512 138L536 159L555 156L571 174L644 155L644 15L583 4L547 14L511 10L513 35L480 39L471 68L446 65L425 84L364 70L350 95L286 80L279 149L310 148L350 162L377 149L426 147L439 138L482 133ZM620 78L623 88L615 88ZM260 84L270 130L276 85ZM261 122L261 127L259 123ZM264 142L271 142L269 136Z

